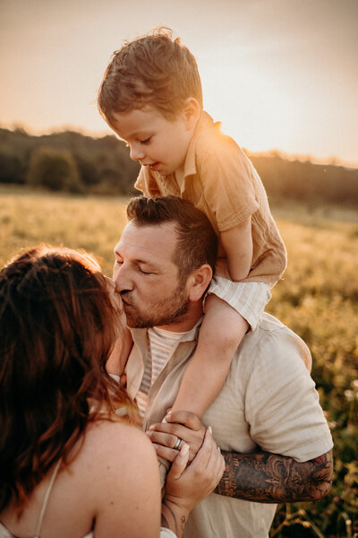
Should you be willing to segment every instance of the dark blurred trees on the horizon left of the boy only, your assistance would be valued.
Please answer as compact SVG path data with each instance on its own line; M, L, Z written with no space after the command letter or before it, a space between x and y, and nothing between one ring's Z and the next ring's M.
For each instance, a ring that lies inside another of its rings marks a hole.
M138 169L115 136L92 138L72 131L32 136L21 128L0 129L0 183L128 195Z

